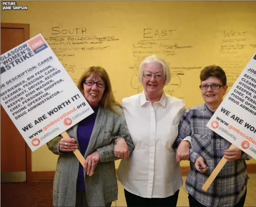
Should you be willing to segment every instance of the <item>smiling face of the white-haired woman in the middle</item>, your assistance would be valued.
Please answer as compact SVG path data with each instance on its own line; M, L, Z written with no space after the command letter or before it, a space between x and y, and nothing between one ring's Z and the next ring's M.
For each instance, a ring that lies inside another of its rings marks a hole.
M146 75L154 75L151 78ZM161 77L160 77L161 76ZM144 66L143 71L143 87L147 96L158 97L162 96L164 87L163 67L159 63L148 63Z

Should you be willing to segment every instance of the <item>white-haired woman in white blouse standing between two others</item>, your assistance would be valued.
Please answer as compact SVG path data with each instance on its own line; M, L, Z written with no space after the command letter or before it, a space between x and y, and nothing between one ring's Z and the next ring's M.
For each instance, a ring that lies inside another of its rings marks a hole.
M118 179L125 188L127 206L176 206L183 180L172 145L185 104L163 92L171 79L163 58L145 58L138 76L144 91L122 100L135 149L129 159L121 160ZM189 145L183 143L189 157Z

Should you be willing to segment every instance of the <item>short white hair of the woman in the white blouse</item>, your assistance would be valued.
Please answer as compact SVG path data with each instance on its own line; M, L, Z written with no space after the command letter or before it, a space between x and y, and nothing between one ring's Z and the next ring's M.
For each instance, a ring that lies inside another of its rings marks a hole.
M159 63L162 65L163 75L164 75L164 85L167 85L171 81L170 66L165 59L157 55L148 56L142 61L141 65L139 66L138 81L142 83L145 66L149 63Z

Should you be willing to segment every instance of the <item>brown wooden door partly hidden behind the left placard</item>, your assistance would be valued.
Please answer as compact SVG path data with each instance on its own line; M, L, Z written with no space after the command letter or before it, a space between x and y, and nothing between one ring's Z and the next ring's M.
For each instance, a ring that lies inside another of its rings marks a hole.
M29 24L1 23L1 54L28 39ZM1 183L26 182L30 174L31 151L1 106Z

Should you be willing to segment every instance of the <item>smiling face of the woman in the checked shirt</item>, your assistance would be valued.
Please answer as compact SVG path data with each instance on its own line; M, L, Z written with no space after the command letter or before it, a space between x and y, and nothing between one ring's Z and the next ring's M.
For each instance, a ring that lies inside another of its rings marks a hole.
M210 76L207 80L201 82L202 85L213 85L219 84L222 85L223 83L221 80L217 79L217 77ZM220 105L223 96L227 92L227 85L224 87L220 87L219 89L211 89L208 87L207 90L201 90L201 94L205 103L209 105Z

